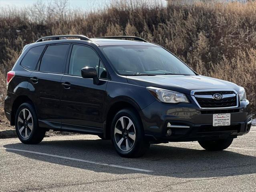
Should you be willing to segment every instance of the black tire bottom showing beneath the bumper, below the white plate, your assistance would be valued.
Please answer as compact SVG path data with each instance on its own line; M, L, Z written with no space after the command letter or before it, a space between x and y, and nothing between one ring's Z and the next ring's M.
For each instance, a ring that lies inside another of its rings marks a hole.
M221 151L228 148L233 142L233 138L210 140L210 141L198 141L198 143L208 151Z

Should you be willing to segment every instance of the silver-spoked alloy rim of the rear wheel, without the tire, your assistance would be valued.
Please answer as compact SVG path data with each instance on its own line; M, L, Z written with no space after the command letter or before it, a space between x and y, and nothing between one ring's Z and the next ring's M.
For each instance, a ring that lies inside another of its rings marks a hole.
M33 130L32 114L27 109L22 109L18 115L18 131L22 138L28 138Z

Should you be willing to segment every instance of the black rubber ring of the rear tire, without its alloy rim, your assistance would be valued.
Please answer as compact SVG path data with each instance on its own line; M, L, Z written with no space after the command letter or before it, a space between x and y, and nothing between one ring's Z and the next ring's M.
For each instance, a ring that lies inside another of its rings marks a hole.
M23 138L20 135L20 132L18 131L18 115L20 114L20 111L23 109L27 109L30 111L30 113L32 115L32 120L33 120L33 129L28 138ZM37 128L38 128L38 119L37 119L37 115L36 115L36 111L34 110L34 107L30 103L21 104L16 112L16 115L15 115L15 130L16 130L16 134L17 134L19 140L24 143L28 143L28 142L32 141Z

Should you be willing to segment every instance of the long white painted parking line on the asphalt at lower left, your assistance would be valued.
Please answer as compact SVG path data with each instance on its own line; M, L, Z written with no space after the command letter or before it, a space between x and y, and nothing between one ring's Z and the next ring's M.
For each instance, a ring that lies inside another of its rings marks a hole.
M83 160L83 159L65 157L65 156L60 156L60 155L52 155L52 154L47 154L47 153L35 152L35 151L28 151L28 150L14 149L14 148L5 148L5 147L0 147L0 149L20 151L20 152L26 152L26 153L33 153L33 154L38 154L38 155L45 155L45 156L50 156L50 157L56 157L56 158L62 158L62 159L68 159L68 160L73 160L73 161L80 161L80 162L85 162L85 163L92 163L92 164L104 165L104 166L110 166L110 167L116 167L116 168L122 168L122 169L129 169L129 170L135 170L135 171L141 171L141 172L153 172L151 170L146 170L146 169L138 169L138 168L133 168L133 167L126 167L126 166L119 166L119 165L113 165L113 164L107 164L107 163L93 162L93 161L88 161L88 160Z

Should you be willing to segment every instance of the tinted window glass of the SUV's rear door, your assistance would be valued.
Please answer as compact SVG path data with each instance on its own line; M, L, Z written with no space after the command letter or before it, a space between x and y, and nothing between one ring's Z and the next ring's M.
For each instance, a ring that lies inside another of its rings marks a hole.
M62 73L69 45L52 45L46 48L40 62L40 71Z

